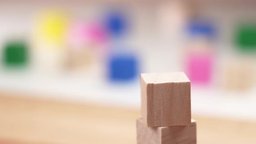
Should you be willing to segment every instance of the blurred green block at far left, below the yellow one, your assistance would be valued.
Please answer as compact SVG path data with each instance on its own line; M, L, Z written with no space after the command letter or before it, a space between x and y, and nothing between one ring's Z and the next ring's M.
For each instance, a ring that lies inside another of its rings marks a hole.
M25 66L28 63L28 46L23 41L9 41L3 47L3 62L7 66Z

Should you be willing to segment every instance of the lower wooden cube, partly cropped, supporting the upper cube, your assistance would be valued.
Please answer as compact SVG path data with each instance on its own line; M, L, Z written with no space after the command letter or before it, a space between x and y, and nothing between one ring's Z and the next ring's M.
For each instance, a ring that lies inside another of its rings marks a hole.
M137 119L137 144L197 144L197 124L171 127L147 127Z

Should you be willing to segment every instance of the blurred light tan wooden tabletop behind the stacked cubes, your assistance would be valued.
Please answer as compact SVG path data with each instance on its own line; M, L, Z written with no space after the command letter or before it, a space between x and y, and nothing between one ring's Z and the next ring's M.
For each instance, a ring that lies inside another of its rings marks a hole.
M139 110L0 93L0 144L136 144ZM197 144L256 144L256 123L192 116Z

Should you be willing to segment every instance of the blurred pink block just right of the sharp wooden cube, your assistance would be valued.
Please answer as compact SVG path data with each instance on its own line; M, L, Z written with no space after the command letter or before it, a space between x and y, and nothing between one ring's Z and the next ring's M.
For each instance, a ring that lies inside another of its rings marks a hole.
M186 72L192 83L209 84L213 74L213 54L189 53L186 59Z

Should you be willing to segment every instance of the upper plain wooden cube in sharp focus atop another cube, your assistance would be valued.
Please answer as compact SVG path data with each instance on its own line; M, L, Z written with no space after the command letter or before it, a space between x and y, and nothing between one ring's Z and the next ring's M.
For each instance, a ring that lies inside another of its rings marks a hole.
M184 72L141 74L141 115L148 127L191 124L190 81Z

